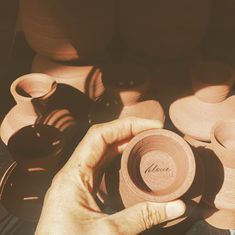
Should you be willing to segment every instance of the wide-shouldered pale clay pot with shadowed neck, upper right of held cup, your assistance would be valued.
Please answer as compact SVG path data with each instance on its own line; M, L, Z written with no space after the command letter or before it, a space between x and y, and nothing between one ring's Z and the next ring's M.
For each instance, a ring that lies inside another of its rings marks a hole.
M171 121L183 134L210 141L212 126L235 118L235 96L231 95L234 71L217 61L201 62L191 70L193 92L185 92L169 110Z

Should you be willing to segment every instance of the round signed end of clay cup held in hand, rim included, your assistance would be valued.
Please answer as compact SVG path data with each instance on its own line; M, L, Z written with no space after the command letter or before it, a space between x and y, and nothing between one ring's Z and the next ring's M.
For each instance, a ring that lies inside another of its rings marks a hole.
M178 135L151 130L128 144L121 172L134 195L146 201L166 202L181 197L190 188L195 160L190 147Z

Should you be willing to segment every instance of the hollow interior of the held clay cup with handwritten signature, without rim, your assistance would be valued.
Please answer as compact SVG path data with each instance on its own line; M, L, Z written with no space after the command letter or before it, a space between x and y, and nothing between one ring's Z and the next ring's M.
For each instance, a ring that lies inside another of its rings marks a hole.
M127 164L134 184L154 196L174 193L185 182L189 169L182 145L162 135L141 139L132 149Z

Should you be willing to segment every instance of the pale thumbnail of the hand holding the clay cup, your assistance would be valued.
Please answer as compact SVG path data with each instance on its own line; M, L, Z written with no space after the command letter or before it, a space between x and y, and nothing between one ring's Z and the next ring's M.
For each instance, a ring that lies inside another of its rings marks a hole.
M185 204L180 200L169 202L166 205L166 215L169 219L174 219L183 215L185 210L186 210Z

